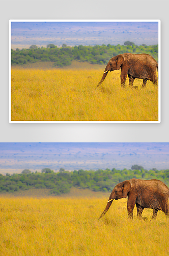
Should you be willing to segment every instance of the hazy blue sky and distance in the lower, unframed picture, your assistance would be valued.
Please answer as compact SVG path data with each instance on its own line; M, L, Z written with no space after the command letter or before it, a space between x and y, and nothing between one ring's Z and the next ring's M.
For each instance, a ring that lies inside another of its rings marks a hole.
M0 173L21 173L23 169L57 172L98 168L169 168L169 143L0 143Z

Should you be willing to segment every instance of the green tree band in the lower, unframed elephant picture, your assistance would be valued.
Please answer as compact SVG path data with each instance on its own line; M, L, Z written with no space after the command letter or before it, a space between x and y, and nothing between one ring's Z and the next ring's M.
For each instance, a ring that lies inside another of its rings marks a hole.
M133 165L134 166L134 165ZM133 167L132 166L132 167ZM142 166L141 166L142 167ZM124 180L137 179L159 179L167 186L169 185L169 169L151 170L123 169L117 170L98 169L94 170L74 170L73 172L60 169L59 173L53 173L49 168L42 169L42 173L31 173L25 169L21 174L0 174L0 193L27 190L32 188L50 189L50 194L61 195L69 193L71 187L89 188L93 191L111 191L114 186Z

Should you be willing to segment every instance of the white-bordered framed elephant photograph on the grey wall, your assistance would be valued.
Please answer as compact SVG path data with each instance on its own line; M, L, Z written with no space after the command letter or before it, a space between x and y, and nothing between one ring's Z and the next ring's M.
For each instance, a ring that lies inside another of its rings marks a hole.
M159 123L160 20L9 20L9 122Z

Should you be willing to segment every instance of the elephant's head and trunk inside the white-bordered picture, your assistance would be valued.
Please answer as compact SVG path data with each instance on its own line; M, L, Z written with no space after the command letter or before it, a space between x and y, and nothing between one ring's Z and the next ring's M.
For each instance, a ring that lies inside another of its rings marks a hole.
M123 64L123 62L124 62L124 56L122 54L112 57L108 61L107 66L104 70L103 76L102 76L100 82L97 84L97 87L100 86L100 84L104 81L108 71L111 72L113 70L119 70L121 68L121 65Z

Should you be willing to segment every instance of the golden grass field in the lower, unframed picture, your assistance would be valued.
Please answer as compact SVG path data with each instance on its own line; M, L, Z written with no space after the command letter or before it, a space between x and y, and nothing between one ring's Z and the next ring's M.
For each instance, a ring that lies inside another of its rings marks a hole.
M15 255L169 255L168 220L159 211L151 221L127 219L127 200L107 198L0 198L0 254Z

